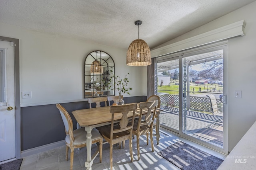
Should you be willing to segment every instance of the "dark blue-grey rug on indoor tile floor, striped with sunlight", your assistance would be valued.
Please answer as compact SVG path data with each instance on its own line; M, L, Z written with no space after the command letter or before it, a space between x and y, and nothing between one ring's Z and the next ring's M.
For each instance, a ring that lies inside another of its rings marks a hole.
M223 162L222 159L182 141L174 143L158 154L181 170L216 170Z

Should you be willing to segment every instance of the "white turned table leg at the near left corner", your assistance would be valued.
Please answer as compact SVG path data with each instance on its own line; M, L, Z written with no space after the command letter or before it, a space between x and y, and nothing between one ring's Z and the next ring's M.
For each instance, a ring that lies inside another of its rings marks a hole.
M85 131L87 132L86 135L86 149L87 149L87 159L85 162L86 170L92 170L92 157L91 157L91 150L92 150L92 127L85 127Z

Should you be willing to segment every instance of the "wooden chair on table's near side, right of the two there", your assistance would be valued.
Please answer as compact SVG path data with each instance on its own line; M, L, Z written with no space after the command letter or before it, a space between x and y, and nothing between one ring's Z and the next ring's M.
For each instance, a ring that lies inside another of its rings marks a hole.
M156 116L156 106L158 105L158 100L154 100L151 102L140 102L140 116L138 121L134 123L132 134L137 137L137 152L138 152L138 160L140 160L140 135L147 135L147 145L148 145L148 133L150 133L150 141L151 148L154 152L153 145L153 122ZM147 111L144 115L144 119L142 119L142 110ZM152 112L152 109L154 111Z

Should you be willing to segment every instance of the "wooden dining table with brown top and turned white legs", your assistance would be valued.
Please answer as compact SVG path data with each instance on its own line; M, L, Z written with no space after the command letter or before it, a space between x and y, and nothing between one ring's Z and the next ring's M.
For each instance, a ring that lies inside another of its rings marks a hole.
M156 109L156 141L157 145L159 144L159 114L162 109ZM142 110L142 114L147 113L146 110ZM76 118L77 123L85 128L87 132L86 135L86 149L87 149L87 159L85 162L86 170L92 170L92 164L95 156L98 154L98 151L94 154L93 158L91 156L91 149L92 149L92 128L101 127L104 125L111 124L111 116L110 113L110 106L106 107L95 107L90 109L80 109L72 111L72 114ZM138 107L135 113L135 117L140 115L140 108ZM116 114L114 120L118 122L122 117L122 113ZM128 117L132 117L132 111L128 113Z

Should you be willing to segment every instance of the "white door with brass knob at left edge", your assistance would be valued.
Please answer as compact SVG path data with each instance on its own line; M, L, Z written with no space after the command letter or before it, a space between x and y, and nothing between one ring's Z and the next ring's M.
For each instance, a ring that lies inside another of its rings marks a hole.
M0 162L16 157L14 43L0 41Z

